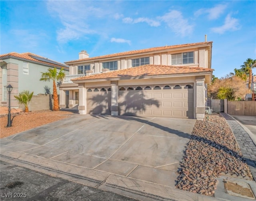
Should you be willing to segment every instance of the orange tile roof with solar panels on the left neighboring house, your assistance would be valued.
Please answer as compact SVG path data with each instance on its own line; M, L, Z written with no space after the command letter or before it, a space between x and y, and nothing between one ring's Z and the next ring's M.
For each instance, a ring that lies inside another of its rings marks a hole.
M26 52L26 53L10 52L8 54L0 55L1 59L9 58L9 57L10 58L18 58L18 59L22 59L22 60L28 60L28 61L32 61L32 62L36 62L36 63L46 64L47 66L53 66L56 68L64 68L66 70L69 70L69 67L65 64L50 60L48 58L44 58L44 57L36 55L36 54L32 54L30 52Z

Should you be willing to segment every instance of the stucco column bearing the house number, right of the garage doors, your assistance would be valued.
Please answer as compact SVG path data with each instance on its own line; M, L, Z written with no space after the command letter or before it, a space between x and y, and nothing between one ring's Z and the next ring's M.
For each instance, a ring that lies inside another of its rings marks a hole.
M196 77L196 119L203 120L205 114L204 76Z

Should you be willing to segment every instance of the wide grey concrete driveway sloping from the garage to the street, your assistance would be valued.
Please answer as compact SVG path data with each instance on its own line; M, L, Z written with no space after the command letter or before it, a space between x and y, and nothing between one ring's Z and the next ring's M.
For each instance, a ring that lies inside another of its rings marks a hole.
M1 160L136 199L194 200L174 186L195 121L74 115L1 139Z

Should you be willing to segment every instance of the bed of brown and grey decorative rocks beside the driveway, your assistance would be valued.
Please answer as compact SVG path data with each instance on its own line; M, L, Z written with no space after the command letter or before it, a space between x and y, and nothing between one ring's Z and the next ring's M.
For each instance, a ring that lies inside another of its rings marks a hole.
M210 115L196 120L176 188L212 196L219 175L253 180L228 123L220 115Z

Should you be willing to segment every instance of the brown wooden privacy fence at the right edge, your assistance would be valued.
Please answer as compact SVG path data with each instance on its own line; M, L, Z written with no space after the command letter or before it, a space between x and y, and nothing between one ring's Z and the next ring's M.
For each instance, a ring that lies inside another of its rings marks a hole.
M228 101L230 115L256 115L256 101Z

